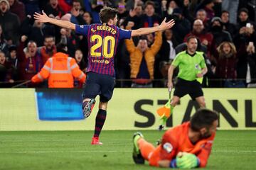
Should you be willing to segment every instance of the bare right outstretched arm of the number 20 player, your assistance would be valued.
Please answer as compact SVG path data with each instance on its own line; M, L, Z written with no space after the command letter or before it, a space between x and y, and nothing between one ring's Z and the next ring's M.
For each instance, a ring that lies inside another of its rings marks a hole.
M164 21L161 23L160 26L154 26L151 28L139 28L137 30L132 30L132 37L154 33L159 30L167 30L169 28L172 28L174 24L175 24L175 21L173 19L169 22L166 22L166 18L164 18Z

